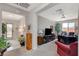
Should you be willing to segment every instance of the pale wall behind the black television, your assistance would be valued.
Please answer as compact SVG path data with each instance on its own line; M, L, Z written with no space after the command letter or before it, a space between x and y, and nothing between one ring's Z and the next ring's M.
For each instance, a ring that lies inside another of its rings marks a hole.
M44 17L38 16L38 32L40 30L45 30L45 28L50 28L51 25L53 26L53 32L55 32L54 29L55 22L46 19Z

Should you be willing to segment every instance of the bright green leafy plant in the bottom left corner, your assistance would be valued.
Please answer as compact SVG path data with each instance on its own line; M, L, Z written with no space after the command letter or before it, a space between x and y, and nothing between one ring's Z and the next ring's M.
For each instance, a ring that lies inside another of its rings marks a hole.
M10 44L7 42L7 39L0 37L0 55L3 56L7 48L10 47Z

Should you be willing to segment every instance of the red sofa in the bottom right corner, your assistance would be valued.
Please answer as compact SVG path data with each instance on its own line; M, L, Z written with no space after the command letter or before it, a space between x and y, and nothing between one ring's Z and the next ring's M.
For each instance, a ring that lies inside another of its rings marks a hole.
M69 45L63 44L59 41L55 42L57 45L57 53L60 56L78 56L78 41Z

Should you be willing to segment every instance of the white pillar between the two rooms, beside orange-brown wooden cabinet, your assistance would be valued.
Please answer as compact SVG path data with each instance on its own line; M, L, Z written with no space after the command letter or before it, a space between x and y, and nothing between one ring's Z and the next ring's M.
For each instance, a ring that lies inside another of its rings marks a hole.
M31 33L32 33L32 49L37 49L37 14L30 12L29 21L31 25Z

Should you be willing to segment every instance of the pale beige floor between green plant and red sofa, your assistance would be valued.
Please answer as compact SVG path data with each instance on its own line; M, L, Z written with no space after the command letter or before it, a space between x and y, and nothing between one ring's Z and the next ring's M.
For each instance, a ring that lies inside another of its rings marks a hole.
M17 47L17 45L15 46ZM58 56L58 54L56 53L55 41L52 41L31 51L26 50L25 47L17 47L11 51L6 51L4 56Z

